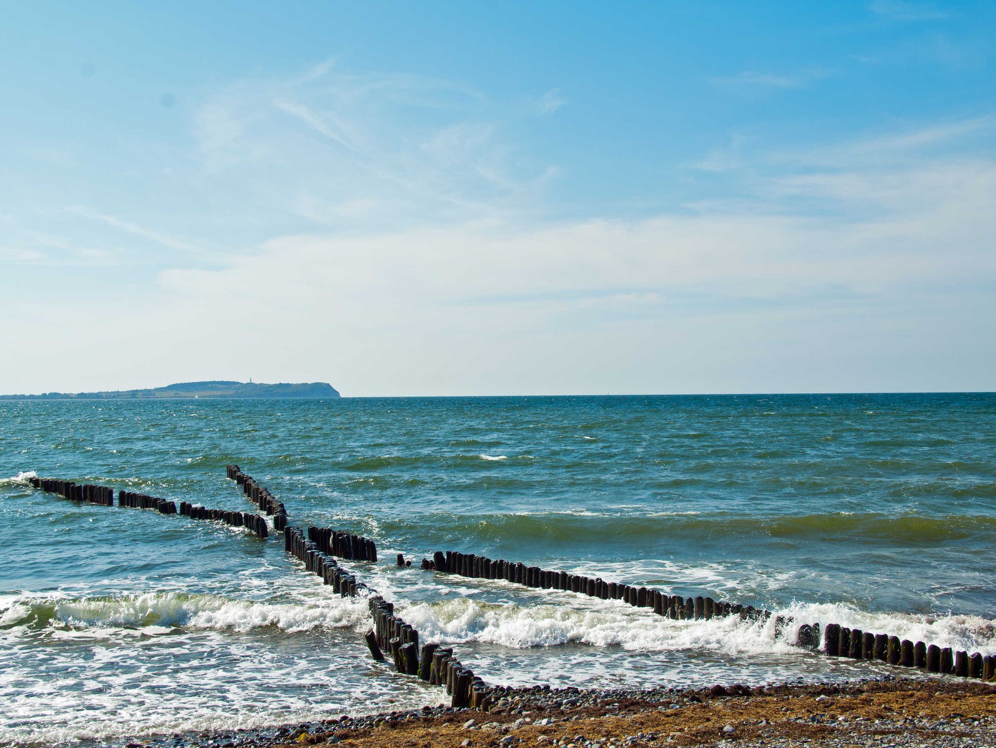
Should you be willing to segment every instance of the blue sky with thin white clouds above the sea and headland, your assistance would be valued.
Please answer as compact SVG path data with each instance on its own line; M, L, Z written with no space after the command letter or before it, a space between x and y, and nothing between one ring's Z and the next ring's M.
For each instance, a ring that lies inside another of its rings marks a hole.
M993 390L992 2L0 1L0 392Z

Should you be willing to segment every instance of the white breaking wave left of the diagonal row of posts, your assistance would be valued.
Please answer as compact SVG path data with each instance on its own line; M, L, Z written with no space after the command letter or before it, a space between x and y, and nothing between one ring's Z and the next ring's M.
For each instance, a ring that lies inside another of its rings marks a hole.
M247 631L272 626L297 632L344 628L363 623L368 616L366 601L338 597L321 604L265 603L178 592L82 599L11 596L0 606L0 630L164 626Z

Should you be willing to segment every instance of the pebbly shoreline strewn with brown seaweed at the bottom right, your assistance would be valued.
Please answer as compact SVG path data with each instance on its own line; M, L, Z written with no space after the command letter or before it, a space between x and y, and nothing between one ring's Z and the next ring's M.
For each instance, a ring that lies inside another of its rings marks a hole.
M949 678L700 689L495 688L489 711L448 706L158 737L127 748L332 745L996 745L996 686Z

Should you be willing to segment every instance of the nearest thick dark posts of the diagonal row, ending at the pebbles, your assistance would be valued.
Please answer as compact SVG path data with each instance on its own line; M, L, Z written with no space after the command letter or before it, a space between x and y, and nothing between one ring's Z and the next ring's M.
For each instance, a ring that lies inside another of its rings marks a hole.
M370 600L373 628L367 632L367 645L374 659L383 660L386 650L394 669L415 675L431 685L446 688L456 707L485 708L490 689L484 680L464 667L453 655L453 647L427 642L418 646L418 631L394 613L394 605L379 595Z

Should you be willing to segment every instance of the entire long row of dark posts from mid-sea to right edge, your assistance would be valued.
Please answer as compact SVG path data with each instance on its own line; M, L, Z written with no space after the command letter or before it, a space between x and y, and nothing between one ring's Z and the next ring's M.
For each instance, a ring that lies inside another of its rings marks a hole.
M432 559L422 559L422 569L457 574L462 577L498 579L506 582L551 590L565 590L602 600L622 600L637 608L652 608L659 616L673 620L708 620L739 616L745 620L767 621L771 612L752 606L741 606L708 597L681 598L668 596L645 587L634 588L615 582L605 582L601 577L589 578L566 572L553 572L536 566L526 566L485 556L436 551ZM794 619L775 618L775 636L788 632ZM820 624L803 623L795 631L794 643L807 649L820 650ZM838 623L828 623L824 628L822 651L831 656L853 659L877 659L893 665L918 667L927 672L947 673L962 677L996 680L996 655L983 656L979 652L952 652L950 647L927 645L922 641L900 640L898 636L873 634L858 628L848 628ZM788 637L791 638L792 637Z

